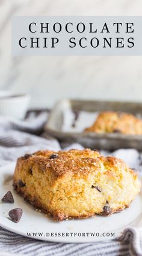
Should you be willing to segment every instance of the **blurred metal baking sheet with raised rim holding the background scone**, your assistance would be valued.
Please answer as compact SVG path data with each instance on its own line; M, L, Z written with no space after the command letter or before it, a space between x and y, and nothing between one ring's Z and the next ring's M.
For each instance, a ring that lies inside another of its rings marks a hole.
M104 110L128 112L137 117L142 117L142 103L62 100L55 104L52 109L48 123L45 125L45 131L60 142L78 142L82 146L90 147L91 149L116 150L134 148L142 150L141 135L83 132L85 127L94 122L97 113ZM80 120L79 115L82 115ZM76 125L76 123L79 125Z

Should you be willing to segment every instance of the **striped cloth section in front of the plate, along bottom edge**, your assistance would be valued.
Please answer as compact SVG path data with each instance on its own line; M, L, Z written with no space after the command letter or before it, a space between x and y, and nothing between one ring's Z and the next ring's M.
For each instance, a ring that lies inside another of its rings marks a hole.
M140 256L141 232L126 229L119 240L98 243L51 243L22 237L0 229L0 255L40 256ZM8 252L8 254L7 254Z

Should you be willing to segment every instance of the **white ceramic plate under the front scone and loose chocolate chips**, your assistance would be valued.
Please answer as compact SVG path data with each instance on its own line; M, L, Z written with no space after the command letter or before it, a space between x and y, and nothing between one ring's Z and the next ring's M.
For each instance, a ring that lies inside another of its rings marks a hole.
M12 191L14 196L13 204L0 203L0 226L9 231L26 237L27 232L37 232L36 236L31 235L31 237L51 242L85 243L116 238L123 229L130 226L142 227L141 193L128 209L110 217L97 216L84 220L54 222L44 214L37 212L34 207L26 203L22 197L13 191L12 174L14 166L15 164L10 164L0 168L0 199L8 190ZM8 211L17 207L22 208L23 215L19 223L14 223L8 218ZM42 233L42 236L38 233ZM114 236L111 233L114 233Z

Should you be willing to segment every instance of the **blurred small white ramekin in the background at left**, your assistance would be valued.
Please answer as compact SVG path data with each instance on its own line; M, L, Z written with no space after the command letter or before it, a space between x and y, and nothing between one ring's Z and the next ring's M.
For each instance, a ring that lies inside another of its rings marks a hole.
M0 91L0 115L22 119L29 106L29 95Z

